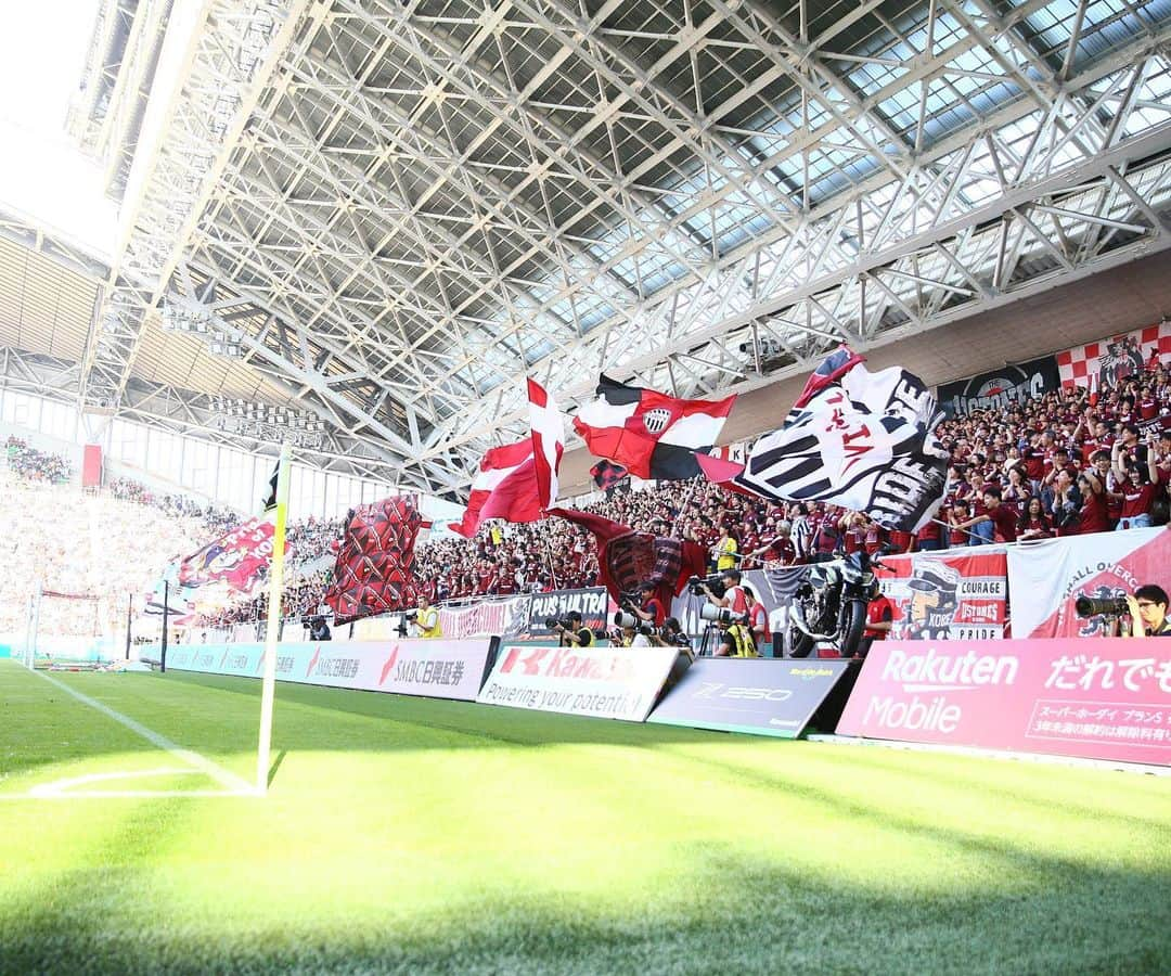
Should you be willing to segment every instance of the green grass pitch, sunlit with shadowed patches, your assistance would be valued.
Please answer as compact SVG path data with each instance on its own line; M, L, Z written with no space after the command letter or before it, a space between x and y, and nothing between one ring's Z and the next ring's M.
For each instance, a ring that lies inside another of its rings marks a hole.
M53 677L252 779L259 682ZM1167 778L285 684L275 715L268 798L207 796L0 662L0 972L1171 960ZM143 796L69 796L108 791Z

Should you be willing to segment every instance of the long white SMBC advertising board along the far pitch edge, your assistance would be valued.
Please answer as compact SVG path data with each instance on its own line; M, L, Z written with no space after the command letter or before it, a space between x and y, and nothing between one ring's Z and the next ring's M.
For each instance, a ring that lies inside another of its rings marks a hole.
M169 650L167 668L237 677L261 676L265 646L186 644ZM331 641L280 643L276 678L362 691L474 702L488 641Z

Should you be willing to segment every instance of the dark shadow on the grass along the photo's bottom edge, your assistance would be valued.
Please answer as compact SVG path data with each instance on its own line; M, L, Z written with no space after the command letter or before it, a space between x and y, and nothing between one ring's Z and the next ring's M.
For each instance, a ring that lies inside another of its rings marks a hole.
M968 846L954 840L963 859ZM138 901L136 893L157 890L145 865L91 864L6 906L0 971L1165 971L1171 917L1153 896L1166 893L1167 876L1155 871L1033 856L1027 869L986 885L924 893L897 876L849 885L719 842L680 848L678 858L670 886L646 879L624 903L553 886L493 889L485 879L475 886L485 893L441 910L371 892L364 917L321 901L282 921L290 909L282 903L254 928L205 902Z

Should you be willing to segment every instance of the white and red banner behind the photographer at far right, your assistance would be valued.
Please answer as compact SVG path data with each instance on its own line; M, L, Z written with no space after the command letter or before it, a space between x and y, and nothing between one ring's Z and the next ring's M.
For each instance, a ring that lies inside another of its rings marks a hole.
M1166 587L1171 532L1130 528L1042 539L1008 551L1016 637L1104 637L1100 616L1080 617L1078 596L1108 599L1144 583Z

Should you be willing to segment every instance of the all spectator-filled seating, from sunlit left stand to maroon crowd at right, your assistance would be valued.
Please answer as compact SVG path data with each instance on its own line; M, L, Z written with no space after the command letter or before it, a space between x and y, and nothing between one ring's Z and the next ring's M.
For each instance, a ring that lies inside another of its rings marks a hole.
M711 551L713 569L809 561L860 547L936 550L1167 523L1167 364L1150 364L1146 373L1111 390L1063 388L945 421L939 432L952 460L947 492L938 521L917 538L889 533L861 513L820 504L769 504L705 482L611 489L582 507L636 530L694 540ZM4 500L6 514L15 519L6 545L16 562L61 589L141 593L169 560L240 520L230 510L158 494L126 478L112 480L102 497L81 504L74 496L66 498L67 489L44 487L68 480L63 458L16 438L7 446L9 477L22 486ZM294 518L288 530L294 572L285 591L285 616L314 613L322 603L330 576L326 564L341 530L340 519ZM87 539L85 558L73 558L78 540ZM589 533L560 519L495 524L474 539L422 542L416 575L436 602L571 589L597 582L597 553ZM6 613L20 603L12 598L14 587L23 585L19 579L5 581L5 589L13 591L0 595ZM241 601L200 623L262 620L267 602L267 594Z

